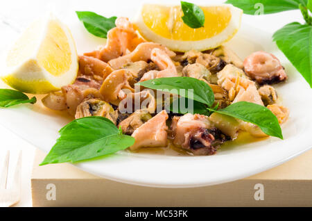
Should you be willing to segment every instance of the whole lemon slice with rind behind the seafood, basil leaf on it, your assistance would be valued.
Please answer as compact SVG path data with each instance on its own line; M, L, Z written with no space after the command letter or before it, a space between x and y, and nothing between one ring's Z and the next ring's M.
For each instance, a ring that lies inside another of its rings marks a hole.
M182 21L180 6L145 4L135 24L147 40L173 51L205 51L227 42L239 31L243 10L232 5L200 6L205 14L202 28L190 28Z

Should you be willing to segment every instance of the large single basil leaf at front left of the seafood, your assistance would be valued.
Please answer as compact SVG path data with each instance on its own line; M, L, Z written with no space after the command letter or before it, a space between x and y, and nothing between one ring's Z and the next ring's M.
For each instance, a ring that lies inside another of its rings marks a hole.
M59 133L60 138L40 165L89 160L126 149L135 142L131 136L120 134L105 117L73 120Z

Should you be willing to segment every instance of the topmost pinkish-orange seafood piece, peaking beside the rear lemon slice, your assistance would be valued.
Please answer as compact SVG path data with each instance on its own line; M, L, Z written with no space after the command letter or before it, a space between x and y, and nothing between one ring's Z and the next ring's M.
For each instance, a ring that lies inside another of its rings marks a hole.
M85 53L85 56L92 56L107 62L125 55L127 49L133 51L138 44L145 42L143 38L137 35L135 28L133 28L128 18L119 17L116 19L115 24L116 27L112 28L107 33L107 43L105 47Z

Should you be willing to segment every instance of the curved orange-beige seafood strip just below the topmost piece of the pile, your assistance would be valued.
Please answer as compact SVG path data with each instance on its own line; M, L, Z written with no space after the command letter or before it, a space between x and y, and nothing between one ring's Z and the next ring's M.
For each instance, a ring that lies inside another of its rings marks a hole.
M170 51L167 47L164 47L162 44L156 44L153 42L144 42L139 44L134 51L132 51L129 54L126 54L125 56L121 56L120 58L112 59L108 62L108 64L113 69L120 69L123 68L128 63L136 62L139 60L144 60L148 62L148 60L151 60L151 53L152 50L158 48L162 49L163 51L168 54L169 57L175 56L175 53L173 51Z

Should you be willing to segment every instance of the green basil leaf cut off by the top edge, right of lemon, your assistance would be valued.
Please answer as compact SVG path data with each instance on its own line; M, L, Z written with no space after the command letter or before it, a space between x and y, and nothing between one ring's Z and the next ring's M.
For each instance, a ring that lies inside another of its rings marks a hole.
M306 2L307 0L227 0L225 3L243 9L245 14L256 15L262 9L261 13L264 14L295 10L299 8L301 1Z

